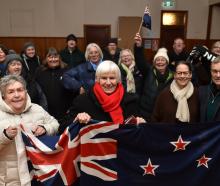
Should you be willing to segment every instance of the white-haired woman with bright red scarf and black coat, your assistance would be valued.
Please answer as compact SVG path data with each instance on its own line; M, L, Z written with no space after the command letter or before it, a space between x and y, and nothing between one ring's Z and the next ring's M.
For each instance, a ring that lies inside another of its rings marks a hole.
M145 122L137 117L137 96L126 93L122 86L119 67L113 61L103 61L96 70L94 86L74 100L65 123L86 124L94 119L123 124L131 115L137 123Z

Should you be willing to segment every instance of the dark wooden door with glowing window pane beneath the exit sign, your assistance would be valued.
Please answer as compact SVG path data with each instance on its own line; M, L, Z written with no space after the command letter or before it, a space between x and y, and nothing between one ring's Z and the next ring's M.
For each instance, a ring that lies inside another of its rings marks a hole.
M187 11L161 11L160 46L171 50L175 38L185 40Z

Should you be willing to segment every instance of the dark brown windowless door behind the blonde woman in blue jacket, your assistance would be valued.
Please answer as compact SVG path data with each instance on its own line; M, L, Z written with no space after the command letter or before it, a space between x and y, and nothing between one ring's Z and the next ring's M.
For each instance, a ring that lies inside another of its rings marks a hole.
M104 48L111 37L111 25L84 25L85 44L96 43Z

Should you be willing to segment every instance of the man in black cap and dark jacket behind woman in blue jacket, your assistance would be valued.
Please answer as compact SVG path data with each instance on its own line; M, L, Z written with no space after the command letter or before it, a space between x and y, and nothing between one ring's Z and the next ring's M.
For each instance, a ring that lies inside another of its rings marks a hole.
M69 68L76 67L77 65L85 62L84 54L77 47L77 38L73 34L66 37L67 46L60 51L60 56Z

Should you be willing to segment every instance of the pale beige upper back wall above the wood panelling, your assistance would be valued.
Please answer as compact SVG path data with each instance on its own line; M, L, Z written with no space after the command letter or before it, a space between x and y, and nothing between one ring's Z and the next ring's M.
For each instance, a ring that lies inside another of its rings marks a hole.
M117 37L119 16L142 16L149 4L152 31L147 37L160 37L162 0L0 0L0 36L83 37L84 24L110 24ZM176 10L188 11L188 39L205 39L209 0L176 0ZM215 13L215 19L220 15ZM220 38L216 24L211 37ZM137 28L138 30L138 28Z

